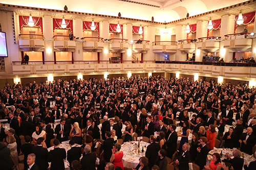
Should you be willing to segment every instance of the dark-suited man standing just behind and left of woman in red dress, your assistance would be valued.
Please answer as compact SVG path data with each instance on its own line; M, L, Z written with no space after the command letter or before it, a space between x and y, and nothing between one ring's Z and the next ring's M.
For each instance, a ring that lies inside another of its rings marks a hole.
M106 162L110 162L110 158L112 155L112 149L114 146L114 139L111 137L111 132L106 131L105 132L105 141L101 144L101 148L103 149L104 153L103 153L103 157L105 159Z

